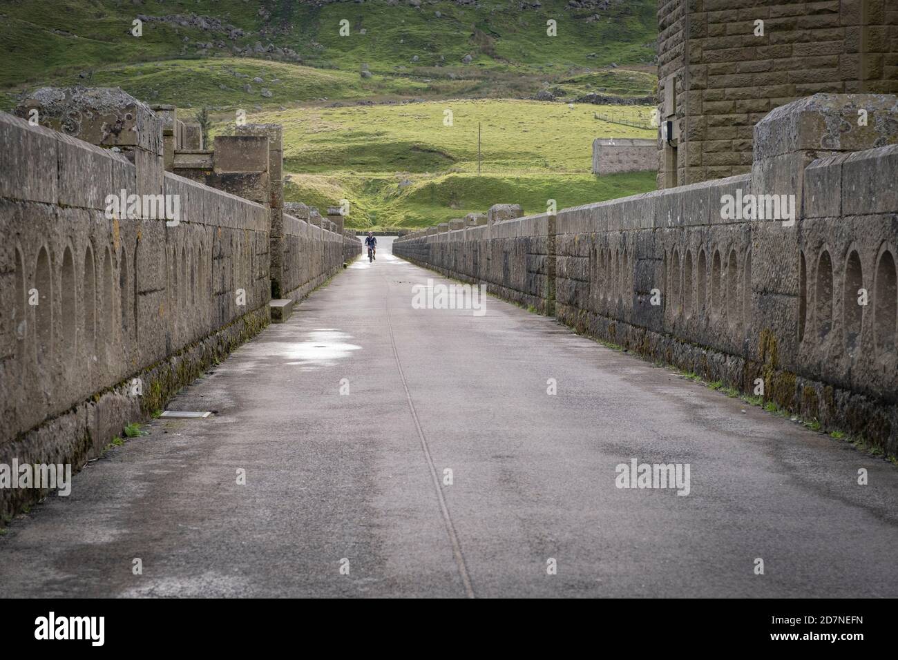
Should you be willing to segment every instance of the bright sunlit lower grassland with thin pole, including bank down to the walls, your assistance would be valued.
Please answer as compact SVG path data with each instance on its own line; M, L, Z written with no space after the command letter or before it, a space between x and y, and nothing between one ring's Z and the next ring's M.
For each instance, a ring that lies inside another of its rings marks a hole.
M443 123L452 110L453 125ZM590 173L596 136L651 137L594 119L620 108L453 100L252 115L284 126L286 198L316 207L348 199L348 226L426 226L501 202L527 213L655 189L654 172ZM648 108L629 108L647 120ZM477 127L481 124L481 173ZM219 131L229 128L220 125Z

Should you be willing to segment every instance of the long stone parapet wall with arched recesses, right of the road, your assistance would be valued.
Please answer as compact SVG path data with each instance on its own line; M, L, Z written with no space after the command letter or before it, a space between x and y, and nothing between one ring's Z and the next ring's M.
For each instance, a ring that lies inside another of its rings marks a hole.
M750 174L556 216L497 205L393 251L895 454L895 143L894 96L817 94L759 122ZM794 222L722 217L749 194L791 196Z

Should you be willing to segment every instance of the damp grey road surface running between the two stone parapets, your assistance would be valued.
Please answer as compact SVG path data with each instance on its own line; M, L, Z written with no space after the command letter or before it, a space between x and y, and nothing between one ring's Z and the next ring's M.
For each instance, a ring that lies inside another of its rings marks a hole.
M449 280L381 243L169 405L212 417L14 521L0 596L898 596L894 465L493 297L416 309Z

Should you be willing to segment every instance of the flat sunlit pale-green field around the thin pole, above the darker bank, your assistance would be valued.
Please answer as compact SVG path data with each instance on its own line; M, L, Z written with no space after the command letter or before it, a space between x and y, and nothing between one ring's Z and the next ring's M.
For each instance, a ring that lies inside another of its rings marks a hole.
M452 112L452 126L445 125ZM284 127L289 172L585 173L597 136L653 137L594 119L615 112L648 122L647 107L540 101L453 100L405 105L301 108L261 112L252 121Z

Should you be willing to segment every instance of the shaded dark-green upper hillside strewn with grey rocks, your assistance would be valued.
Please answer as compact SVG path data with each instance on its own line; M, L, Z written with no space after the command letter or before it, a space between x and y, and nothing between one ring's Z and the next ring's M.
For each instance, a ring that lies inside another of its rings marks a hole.
M617 72L606 74L608 81L577 76L612 63L645 68L655 53L655 12L649 0L612 0L603 11L571 9L566 0L524 10L498 0L420 8L407 0L322 7L296 0L19 0L0 4L0 103L8 108L16 93L39 84L120 84L149 101L229 108L351 100L358 92L523 98L560 80L572 93L592 86L645 95L655 86L650 73L626 84ZM135 37L138 17L143 33ZM546 34L550 20L557 22L555 37ZM340 36L343 21L348 36ZM466 56L470 63L462 62ZM297 83L295 97L284 88L266 99L258 85L242 92L246 81L229 72L269 70L288 81L308 72L297 65L330 70L332 85L316 88L315 96ZM362 79L363 65L372 78Z

